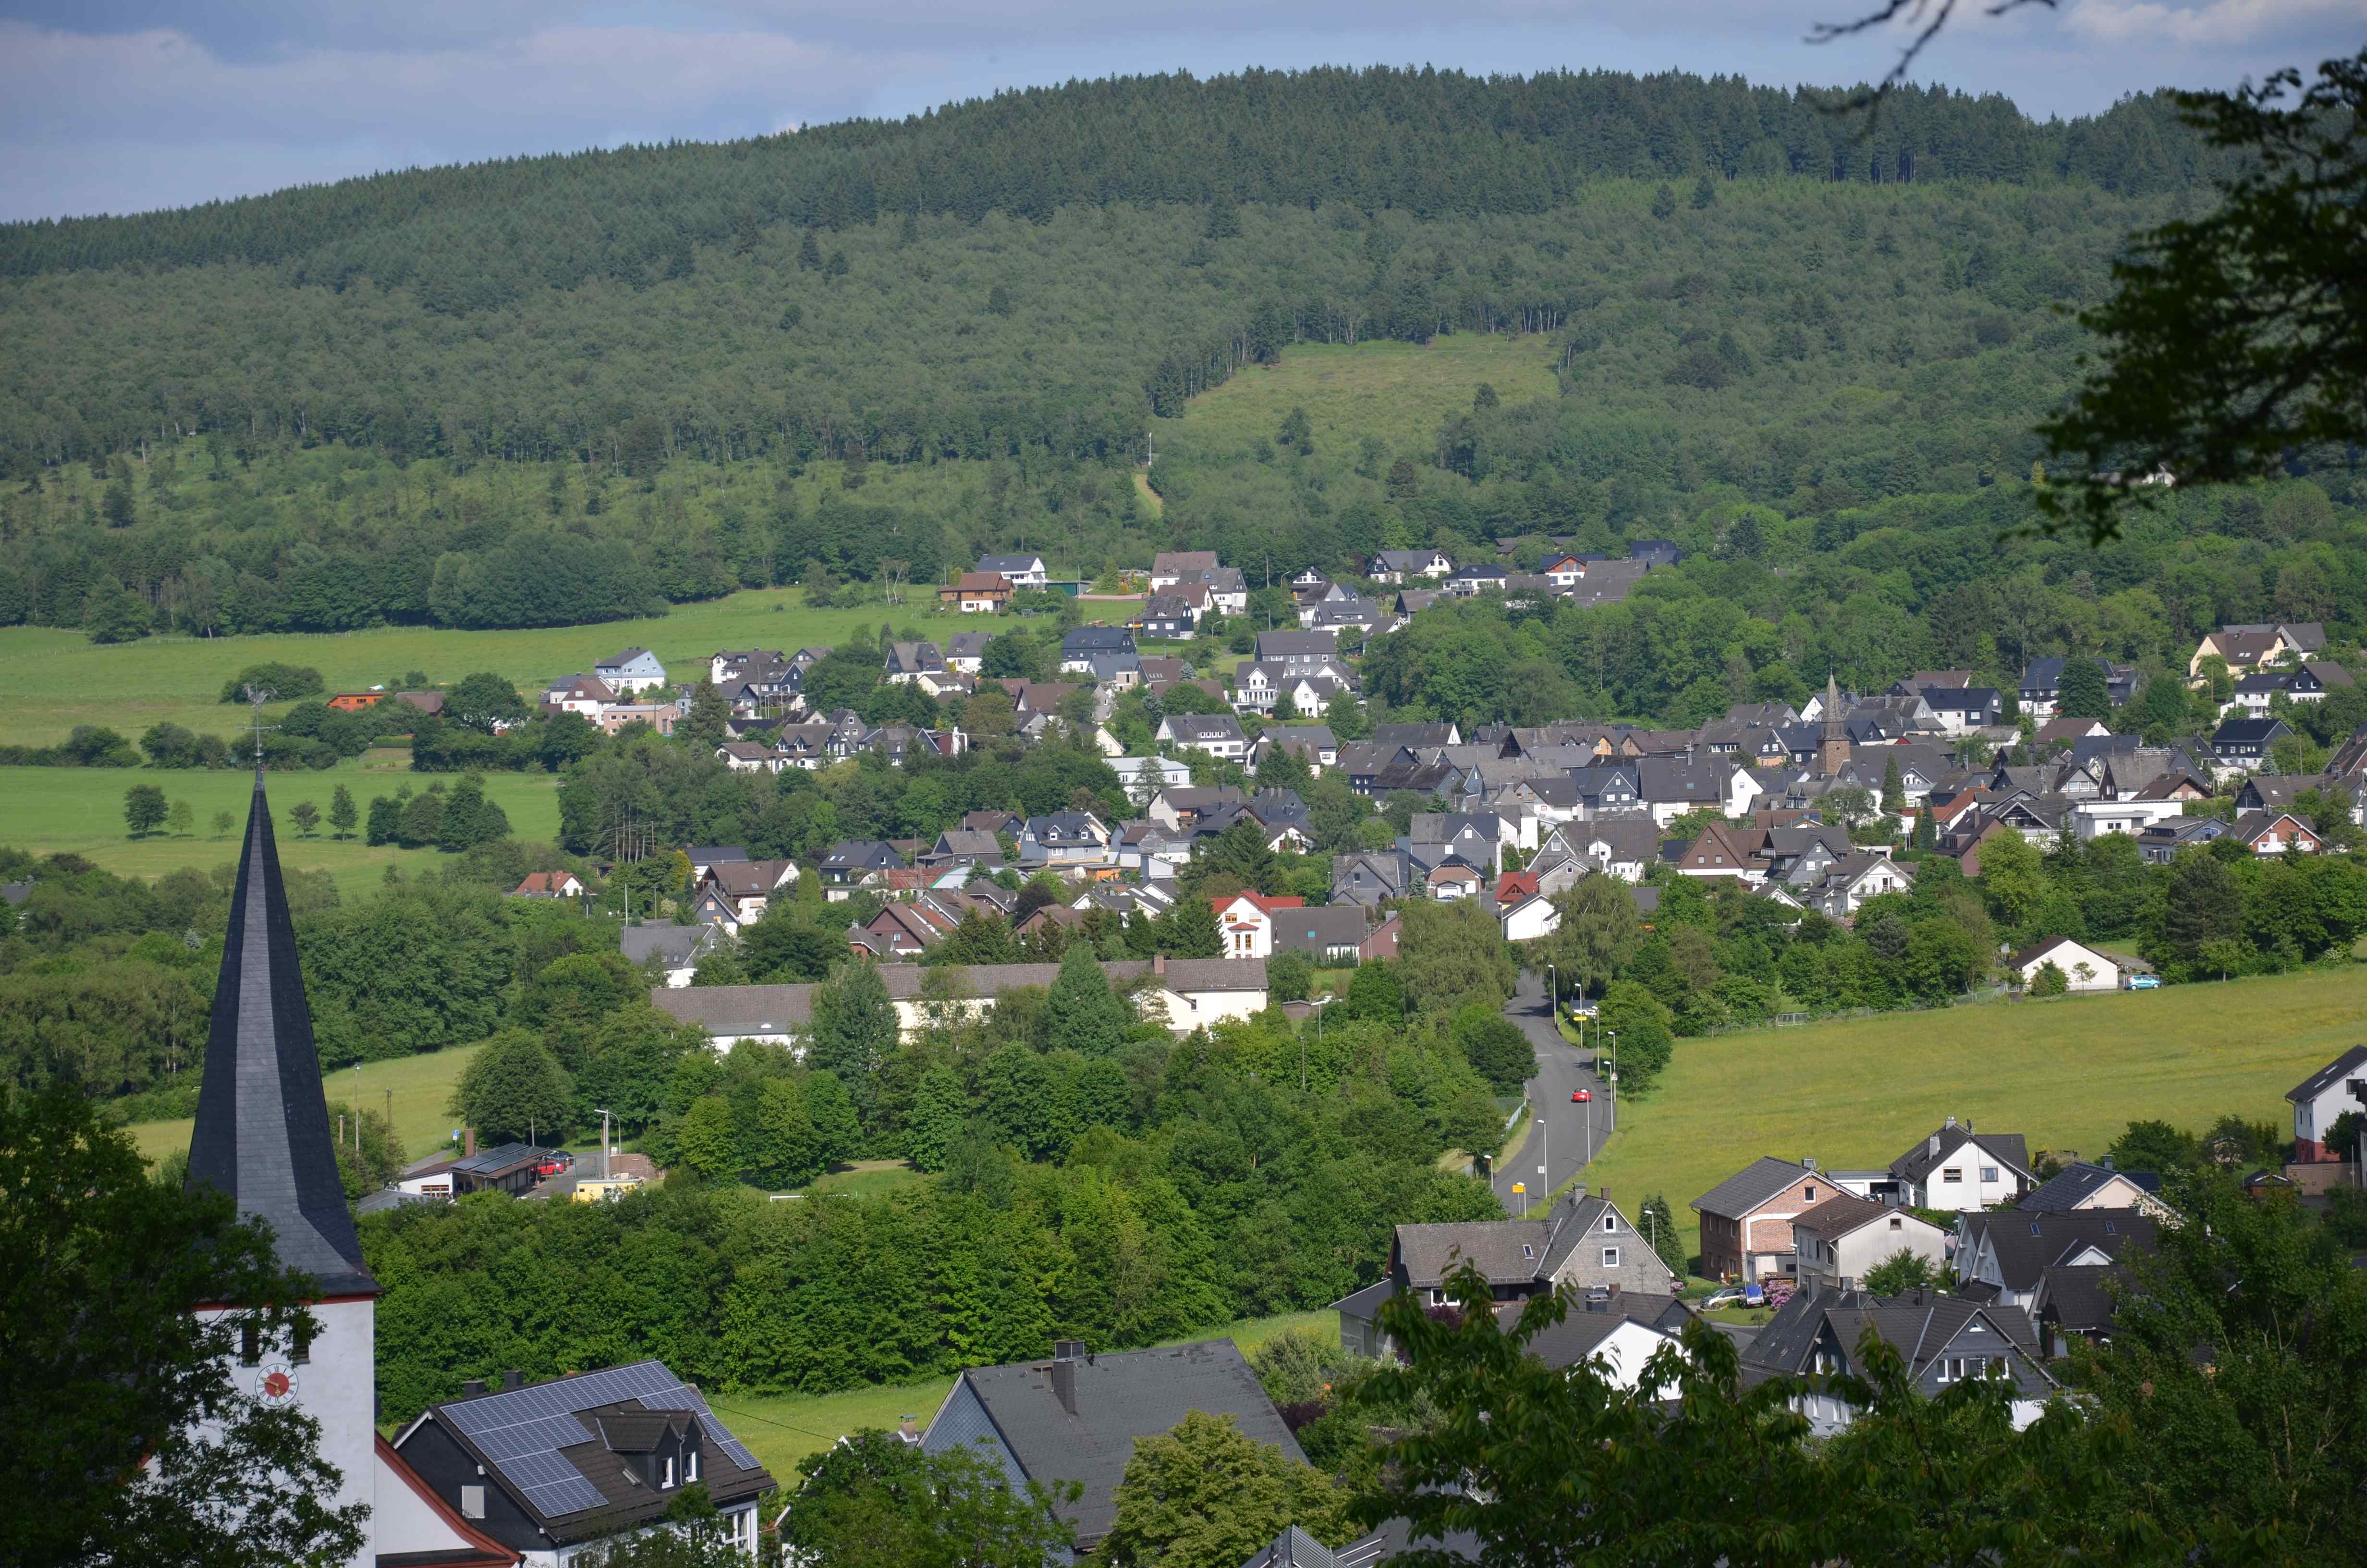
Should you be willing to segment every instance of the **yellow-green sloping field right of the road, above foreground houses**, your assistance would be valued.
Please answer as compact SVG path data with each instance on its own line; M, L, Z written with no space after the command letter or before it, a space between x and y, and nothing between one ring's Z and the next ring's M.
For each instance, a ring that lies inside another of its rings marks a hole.
M1943 1118L2102 1153L2133 1120L2287 1123L2284 1092L2360 1040L2367 969L1678 1040L1652 1097L1619 1106L1588 1170L1633 1215L1688 1208L1761 1153L1889 1165Z

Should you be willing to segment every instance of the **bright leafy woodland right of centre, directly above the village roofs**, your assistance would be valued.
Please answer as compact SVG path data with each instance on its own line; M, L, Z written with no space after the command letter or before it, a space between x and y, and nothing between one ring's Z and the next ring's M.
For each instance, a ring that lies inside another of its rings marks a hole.
M1534 497L1557 483L1505 488ZM2029 490L2000 481L1969 497L1901 495L1823 516L1709 507L1669 528L1695 554L1647 573L1626 602L1432 609L1368 644L1366 692L1404 718L1465 725L1690 727L1737 701L1799 703L1827 675L1882 692L1913 670L1965 668L2012 713L2033 658L2095 654L2142 675L2140 699L2100 718L2159 744L2218 725L2225 694L2189 692L2185 670L2199 637L2223 623L2320 621L2329 656L2358 663L2367 493L2348 476L2180 493L2102 550L2017 535ZM1640 533L1650 521L1628 526ZM1621 531L1579 526L1579 550L1602 545L1624 552ZM2343 689L2327 703L2291 703L2289 718L2334 744L2367 722L2367 699Z

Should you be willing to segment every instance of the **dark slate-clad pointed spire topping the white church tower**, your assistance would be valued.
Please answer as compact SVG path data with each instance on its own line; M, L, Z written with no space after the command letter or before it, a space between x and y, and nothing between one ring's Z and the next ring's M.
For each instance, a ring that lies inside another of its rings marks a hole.
M336 1172L260 767L189 1139L189 1184L199 1182L237 1199L241 1215L267 1220L279 1262L310 1274L322 1296L376 1296Z

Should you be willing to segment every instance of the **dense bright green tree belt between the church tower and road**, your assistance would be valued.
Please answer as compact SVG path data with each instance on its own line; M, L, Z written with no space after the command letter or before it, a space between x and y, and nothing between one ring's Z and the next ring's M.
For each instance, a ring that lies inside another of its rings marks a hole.
M746 1042L679 1059L646 1139L677 1172L663 1189L365 1220L400 1345L388 1409L450 1397L488 1362L658 1355L710 1388L814 1393L1056 1336L1148 1345L1337 1300L1378 1277L1392 1225L1501 1213L1437 1168L1501 1132L1444 1011L1392 1004L1304 1037L1264 1014L1174 1040L1082 950L1049 992L959 1011L897 1042L878 976L850 966L817 997L805 1063ZM942 1175L857 1201L741 1184L854 1151Z

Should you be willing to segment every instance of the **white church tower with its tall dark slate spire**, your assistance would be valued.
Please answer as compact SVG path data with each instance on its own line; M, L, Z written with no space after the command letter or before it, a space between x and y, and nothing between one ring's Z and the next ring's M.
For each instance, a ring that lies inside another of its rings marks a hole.
M419 1561L414 1554L454 1566L516 1563L516 1551L436 1502L379 1440L379 1281L362 1262L329 1139L312 1009L296 964L296 926L260 767L213 990L189 1184L218 1187L244 1217L265 1220L279 1262L310 1274L320 1289L310 1303L317 1322L310 1343L246 1341L232 1379L265 1405L296 1405L320 1421L320 1457L343 1476L334 1504L369 1506L357 1568L388 1556Z

